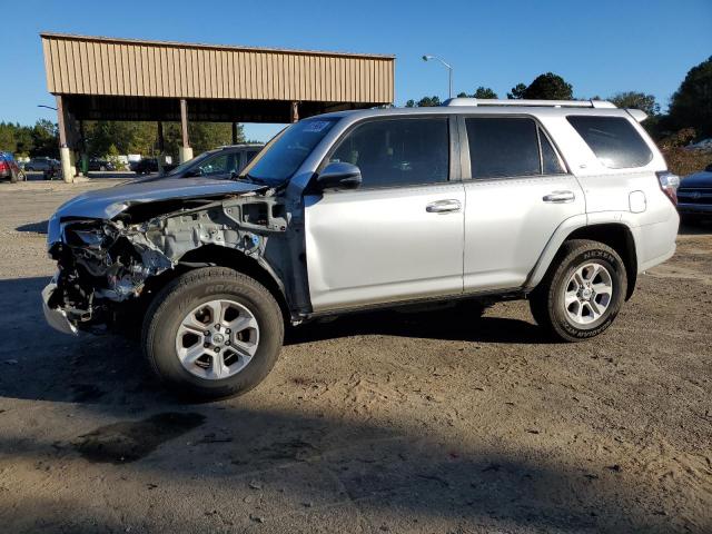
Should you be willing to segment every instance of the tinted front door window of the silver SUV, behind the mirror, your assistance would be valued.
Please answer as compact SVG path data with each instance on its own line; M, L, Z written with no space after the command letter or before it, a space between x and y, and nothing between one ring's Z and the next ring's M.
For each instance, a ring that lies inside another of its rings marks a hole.
M447 118L398 118L357 126L330 161L360 169L362 187L444 182L449 177Z

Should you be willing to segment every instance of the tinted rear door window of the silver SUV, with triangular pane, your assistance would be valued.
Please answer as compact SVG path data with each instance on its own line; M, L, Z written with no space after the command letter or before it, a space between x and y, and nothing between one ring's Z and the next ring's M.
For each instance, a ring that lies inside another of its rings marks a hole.
M524 117L465 119L475 179L565 172L546 135Z

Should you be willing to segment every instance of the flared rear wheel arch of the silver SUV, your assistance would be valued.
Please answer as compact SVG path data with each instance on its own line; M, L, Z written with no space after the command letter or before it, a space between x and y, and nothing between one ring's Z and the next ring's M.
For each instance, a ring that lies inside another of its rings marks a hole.
M591 239L600 241L613 248L625 265L625 274L627 277L627 290L625 300L633 296L635 283L637 280L637 251L635 248L635 238L633 231L624 222L600 222L594 225L582 225L573 228L566 228L565 231L557 233L550 240L546 250L540 257L540 261L532 271L526 283L526 290L533 290L546 275L546 271L558 257L564 243L571 239Z

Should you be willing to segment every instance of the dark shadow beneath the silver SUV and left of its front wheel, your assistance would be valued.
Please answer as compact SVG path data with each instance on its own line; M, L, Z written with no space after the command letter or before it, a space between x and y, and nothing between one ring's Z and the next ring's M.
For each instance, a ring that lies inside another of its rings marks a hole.
M0 396L99 404L119 412L180 403L148 368L140 343L106 333L69 336L53 330L42 315L40 293L49 278L0 280L0 316L7 333L0 346ZM421 313L355 313L330 322L288 328L286 345L349 336L388 335L482 343L552 343L524 320L479 317L476 307ZM27 374L28 369L31 373Z

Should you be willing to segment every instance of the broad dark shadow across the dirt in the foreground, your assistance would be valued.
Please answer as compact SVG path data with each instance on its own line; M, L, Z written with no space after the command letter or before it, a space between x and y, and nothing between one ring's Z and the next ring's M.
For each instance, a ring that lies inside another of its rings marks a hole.
M455 438L407 419L392 427L316 417L297 408L202 406L123 417L53 442L4 434L0 452L18 465L62 466L44 475L43 484L62 477L51 495L40 487L6 497L20 496L3 514L12 532L17 524L27 525L23 532L76 533L97 532L97 525L102 532L129 532L136 524L146 528L141 532L246 532L261 526L267 528L263 532L573 533L673 527L671 517L651 514L657 490L640 484L635 474L622 477L567 451L541 456L513 445L486 445L476 433ZM100 477L107 484L100 484ZM92 492L115 503L111 511L120 514L87 505L92 500L76 486L88 479L97 479ZM168 495L159 502L167 514L151 513L160 498L150 493L154 488ZM181 500L189 506L181 510ZM212 517L216 506L221 514ZM330 528L303 530L324 517ZM372 526L362 528L355 520ZM429 522L439 528L424 531Z

